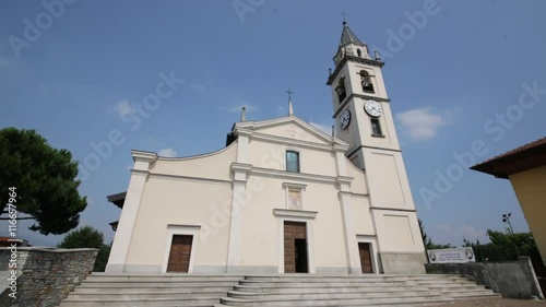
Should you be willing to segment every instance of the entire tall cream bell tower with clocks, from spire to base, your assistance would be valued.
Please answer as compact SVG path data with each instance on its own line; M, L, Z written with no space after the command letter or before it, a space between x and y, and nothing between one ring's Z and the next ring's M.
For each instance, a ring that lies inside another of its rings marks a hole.
M384 62L377 52L370 57L368 45L345 21L333 60L327 84L332 87L336 137L349 144L345 155L365 173L384 272L399 265L424 272L416 210L381 72Z

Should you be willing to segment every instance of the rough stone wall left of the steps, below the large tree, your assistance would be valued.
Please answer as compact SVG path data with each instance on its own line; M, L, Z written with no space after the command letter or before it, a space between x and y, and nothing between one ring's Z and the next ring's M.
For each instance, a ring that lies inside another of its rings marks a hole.
M17 247L14 268L12 250L0 249L0 275L8 275L0 283L0 306L57 306L93 271L97 252L94 248Z

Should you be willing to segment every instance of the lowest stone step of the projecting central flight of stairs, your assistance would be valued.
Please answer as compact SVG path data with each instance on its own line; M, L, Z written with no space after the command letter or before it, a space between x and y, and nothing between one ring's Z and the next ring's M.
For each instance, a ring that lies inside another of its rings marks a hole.
M224 297L221 304L227 306L431 306L451 304L453 299L441 295L429 295L419 297L389 297L389 298L343 298L343 299L241 299Z

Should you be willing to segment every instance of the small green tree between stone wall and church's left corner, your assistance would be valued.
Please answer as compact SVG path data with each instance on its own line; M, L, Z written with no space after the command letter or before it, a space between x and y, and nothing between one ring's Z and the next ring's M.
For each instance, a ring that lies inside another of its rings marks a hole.
M104 272L108 256L110 255L111 244L104 244L104 235L91 226L83 226L79 229L68 233L62 241L57 245L59 248L97 248L98 253L95 260L93 271Z

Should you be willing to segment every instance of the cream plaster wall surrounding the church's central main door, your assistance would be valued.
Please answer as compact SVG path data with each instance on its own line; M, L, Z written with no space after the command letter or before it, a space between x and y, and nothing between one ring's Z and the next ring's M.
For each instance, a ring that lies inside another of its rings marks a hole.
M266 177L257 180L263 188L251 194L251 201L242 211L242 265L278 264L278 220L273 215L273 209L286 209L283 182L290 182L307 184L304 210L319 212L312 222L314 265L346 268L341 208L334 184Z

